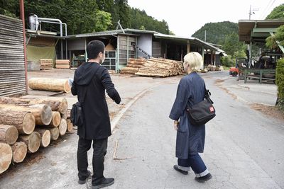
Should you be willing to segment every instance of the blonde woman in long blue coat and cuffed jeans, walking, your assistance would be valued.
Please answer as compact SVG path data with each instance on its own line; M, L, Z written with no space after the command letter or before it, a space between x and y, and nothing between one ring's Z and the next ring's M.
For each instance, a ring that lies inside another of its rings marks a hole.
M187 174L190 167L195 172L195 181L204 182L212 178L198 153L204 150L205 125L190 124L187 105L195 105L204 100L204 80L196 73L202 67L203 59L198 52L190 52L184 57L184 69L187 75L178 85L175 103L170 111L177 130L175 156L178 158L176 171Z

